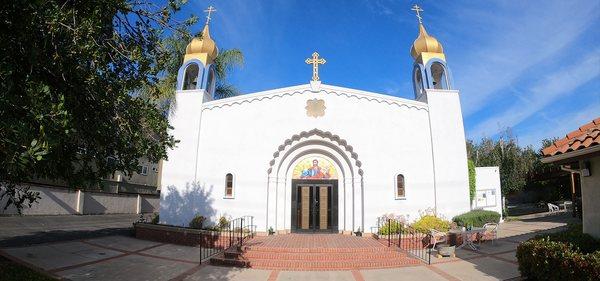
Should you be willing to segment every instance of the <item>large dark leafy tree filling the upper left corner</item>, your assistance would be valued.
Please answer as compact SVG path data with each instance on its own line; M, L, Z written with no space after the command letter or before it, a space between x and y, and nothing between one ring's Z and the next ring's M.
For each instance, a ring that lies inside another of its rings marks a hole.
M85 187L138 159L166 158L175 140L155 104L135 95L158 87L166 33L195 17L134 0L2 1L0 4L0 199L19 210L39 195L34 178Z

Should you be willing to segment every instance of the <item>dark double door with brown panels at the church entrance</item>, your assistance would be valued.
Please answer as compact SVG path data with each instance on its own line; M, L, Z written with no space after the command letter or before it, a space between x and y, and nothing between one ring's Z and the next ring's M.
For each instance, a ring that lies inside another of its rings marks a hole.
M293 180L292 186L292 231L337 232L337 180Z

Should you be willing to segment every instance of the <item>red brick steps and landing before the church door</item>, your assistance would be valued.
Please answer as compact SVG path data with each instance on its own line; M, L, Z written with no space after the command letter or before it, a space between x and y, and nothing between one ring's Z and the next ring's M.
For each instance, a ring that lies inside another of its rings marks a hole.
M213 265L278 270L353 270L419 265L396 247L373 238L341 234L286 234L255 237L240 251L211 259Z

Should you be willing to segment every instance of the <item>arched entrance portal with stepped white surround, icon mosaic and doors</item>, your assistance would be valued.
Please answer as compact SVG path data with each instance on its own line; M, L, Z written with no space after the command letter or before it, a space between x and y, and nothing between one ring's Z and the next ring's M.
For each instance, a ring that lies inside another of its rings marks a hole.
M267 229L364 229L361 162L339 136L318 129L292 136L273 154L267 174Z

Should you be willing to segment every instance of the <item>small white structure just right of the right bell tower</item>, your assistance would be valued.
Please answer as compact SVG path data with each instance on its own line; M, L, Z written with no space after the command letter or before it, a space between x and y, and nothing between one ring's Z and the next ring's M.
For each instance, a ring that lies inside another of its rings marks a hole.
M500 186L499 167L475 168L476 195L473 209L484 209L498 212L502 216L502 190Z

